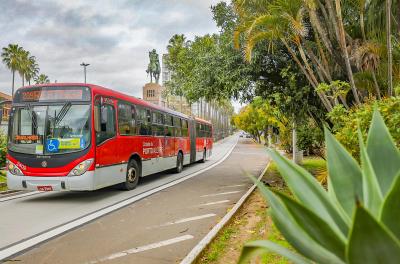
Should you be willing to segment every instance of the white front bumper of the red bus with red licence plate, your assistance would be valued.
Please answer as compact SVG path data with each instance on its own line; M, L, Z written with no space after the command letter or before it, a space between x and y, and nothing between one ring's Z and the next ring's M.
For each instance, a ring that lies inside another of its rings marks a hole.
M93 176L94 171L65 177L16 176L7 172L7 186L10 190L23 191L92 191Z

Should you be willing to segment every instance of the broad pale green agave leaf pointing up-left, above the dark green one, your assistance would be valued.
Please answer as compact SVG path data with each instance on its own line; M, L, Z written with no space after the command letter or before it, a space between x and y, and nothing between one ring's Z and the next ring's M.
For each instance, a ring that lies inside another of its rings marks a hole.
M344 236L347 236L348 224L318 181L308 171L282 157L275 150L268 152L293 195L305 207L325 219L332 228L339 229Z

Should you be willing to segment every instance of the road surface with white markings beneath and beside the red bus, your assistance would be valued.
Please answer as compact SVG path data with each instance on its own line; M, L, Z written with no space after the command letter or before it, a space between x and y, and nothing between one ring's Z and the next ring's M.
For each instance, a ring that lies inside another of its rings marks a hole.
M258 176L267 162L262 146L233 136L216 144L206 163L187 166L181 174L146 177L134 191L107 188L0 199L0 256L2 251L24 249L27 241L49 239L52 235L46 238L46 234L60 229L63 234L8 259L18 263L179 262L249 189L251 181L244 171ZM118 204L121 208L115 210ZM90 220L92 215L97 218ZM75 222L76 227L71 224Z

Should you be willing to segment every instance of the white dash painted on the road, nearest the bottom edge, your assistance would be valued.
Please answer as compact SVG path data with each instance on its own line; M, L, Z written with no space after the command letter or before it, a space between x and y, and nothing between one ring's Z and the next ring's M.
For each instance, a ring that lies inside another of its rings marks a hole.
M146 246L141 246L141 247L135 247L135 248L131 248L128 250L124 250L118 253L114 253L111 254L107 257L101 258L99 260L93 260L88 262L88 264L95 264L95 263L99 263L99 262L104 262L104 261L110 261L113 259L117 259L117 258L122 258L125 256L128 256L130 254L136 254L136 253L140 253L143 251L147 251L147 250L151 250L151 249L156 249L156 248L160 248L160 247L165 247L168 245L172 245L172 244L176 244L185 240L189 240L189 239L193 239L194 237L192 235L184 235L184 236L180 236L180 237L175 237L175 238L171 238L168 240L164 240L164 241L160 241L157 243L153 243L153 244L149 244Z

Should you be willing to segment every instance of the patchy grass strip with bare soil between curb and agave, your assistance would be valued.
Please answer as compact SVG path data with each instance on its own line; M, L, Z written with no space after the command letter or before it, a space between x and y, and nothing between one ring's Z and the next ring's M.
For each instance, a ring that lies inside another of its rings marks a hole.
M325 160L317 157L307 157L303 165L314 176L326 171ZM290 194L283 183L275 163L271 163L263 177L263 181L272 188ZM225 226L204 250L196 263L237 263L243 245L253 240L270 240L291 249L279 230L275 227L269 215L268 203L258 190L250 195L242 208L231 222ZM256 259L255 263L284 264L289 263L278 254L265 253Z

